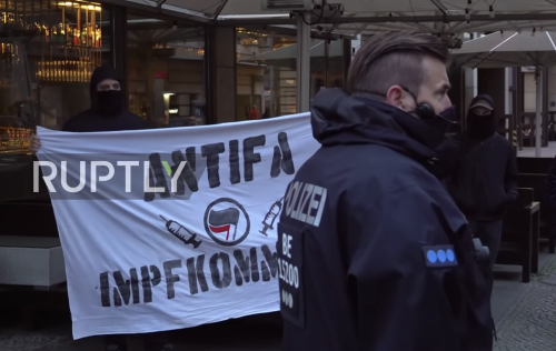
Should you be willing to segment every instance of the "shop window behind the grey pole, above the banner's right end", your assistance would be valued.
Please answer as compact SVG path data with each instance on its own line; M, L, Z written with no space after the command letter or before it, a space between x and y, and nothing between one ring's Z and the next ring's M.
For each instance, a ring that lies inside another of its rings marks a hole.
M279 28L236 28L236 120L279 117L297 112L297 38ZM344 86L341 40L310 42L310 96Z

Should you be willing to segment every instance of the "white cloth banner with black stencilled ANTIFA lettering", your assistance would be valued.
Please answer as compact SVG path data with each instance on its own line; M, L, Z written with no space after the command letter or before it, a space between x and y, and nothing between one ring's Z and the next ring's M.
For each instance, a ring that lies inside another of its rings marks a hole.
M319 148L308 113L38 134L36 187L52 199L75 339L279 310L281 198Z

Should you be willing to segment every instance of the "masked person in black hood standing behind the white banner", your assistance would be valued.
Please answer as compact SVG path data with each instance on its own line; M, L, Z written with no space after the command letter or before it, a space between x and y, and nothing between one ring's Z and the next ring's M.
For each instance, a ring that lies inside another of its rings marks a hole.
M70 118L62 127L68 132L101 132L147 129L147 122L139 116L123 109L122 79L110 66L99 67L92 72L90 81L91 108ZM31 151L40 149L36 136ZM106 351L127 351L123 335L107 335ZM173 350L166 332L150 333L145 339L146 351Z

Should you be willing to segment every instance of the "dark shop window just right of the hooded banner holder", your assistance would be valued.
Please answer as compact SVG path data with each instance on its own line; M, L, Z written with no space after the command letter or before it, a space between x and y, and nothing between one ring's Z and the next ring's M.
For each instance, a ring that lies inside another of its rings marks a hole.
M205 124L205 30L128 14L129 110L153 127Z

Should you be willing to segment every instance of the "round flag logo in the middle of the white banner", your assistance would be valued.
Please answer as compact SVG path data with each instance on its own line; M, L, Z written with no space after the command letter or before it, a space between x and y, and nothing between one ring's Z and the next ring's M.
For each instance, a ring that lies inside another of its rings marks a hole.
M207 234L224 247L234 247L249 235L250 221L245 208L236 200L221 198L205 211Z

